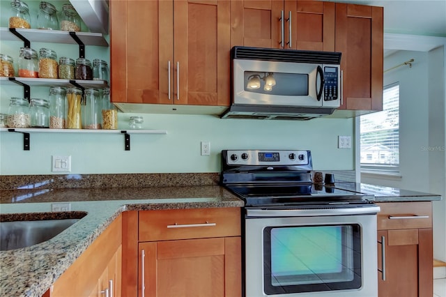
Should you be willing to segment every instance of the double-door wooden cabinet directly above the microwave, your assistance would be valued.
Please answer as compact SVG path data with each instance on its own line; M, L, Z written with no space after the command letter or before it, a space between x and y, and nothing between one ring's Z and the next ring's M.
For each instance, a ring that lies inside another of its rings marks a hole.
M231 46L334 51L334 3L233 1Z

